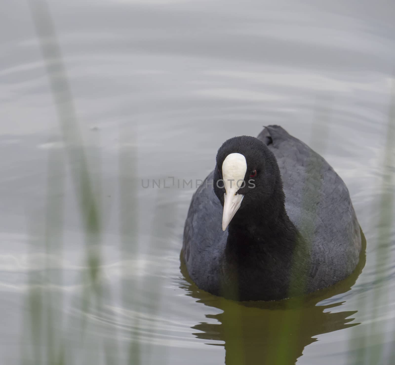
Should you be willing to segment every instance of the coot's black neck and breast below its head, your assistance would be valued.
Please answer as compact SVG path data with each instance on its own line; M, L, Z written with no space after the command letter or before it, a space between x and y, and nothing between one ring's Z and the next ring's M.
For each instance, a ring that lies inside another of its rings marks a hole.
M288 296L299 233L284 202L274 201L276 205L269 202L260 211L248 213L245 224L229 224L222 265L222 284L228 291L224 296L246 300Z

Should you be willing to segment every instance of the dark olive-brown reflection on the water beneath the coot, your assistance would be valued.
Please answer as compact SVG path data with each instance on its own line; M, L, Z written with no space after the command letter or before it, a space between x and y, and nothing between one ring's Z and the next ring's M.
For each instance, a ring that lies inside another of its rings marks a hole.
M359 264L350 277L330 288L282 301L273 302L237 302L211 295L191 281L186 267L181 260L181 273L186 280L182 288L187 295L194 297L198 303L215 307L223 312L207 314L207 318L218 320L218 324L202 322L192 329L199 339L224 341L227 365L237 364L294 364L303 354L308 344L317 341L314 336L353 327L359 323L350 323L350 318L357 312L331 312L344 301L328 305L317 305L324 299L351 290L366 262L366 240L361 231L362 251ZM201 331L201 332L200 332Z

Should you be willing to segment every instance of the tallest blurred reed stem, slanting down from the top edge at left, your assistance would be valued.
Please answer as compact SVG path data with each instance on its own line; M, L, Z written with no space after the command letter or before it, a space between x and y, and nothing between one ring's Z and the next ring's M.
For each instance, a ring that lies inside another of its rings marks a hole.
M83 149L83 140L78 129L73 97L66 76L66 68L62 61L62 53L56 40L55 27L47 2L44 0L28 1L32 19L38 35L45 70L49 78L56 113L60 123L62 136L66 145L71 175L79 202L81 216L85 226L85 242L88 245L87 262L90 267L90 280L98 293L96 285L100 254L97 245L101 239L100 216L97 202L89 176L88 163ZM90 246L96 244L96 249Z

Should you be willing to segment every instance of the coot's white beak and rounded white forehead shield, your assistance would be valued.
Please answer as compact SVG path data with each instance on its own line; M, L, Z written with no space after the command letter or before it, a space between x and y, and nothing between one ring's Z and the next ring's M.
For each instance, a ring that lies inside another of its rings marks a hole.
M226 230L229 222L240 208L243 194L237 194L237 190L244 182L247 163L240 153L231 153L226 156L222 163L222 177L224 180L224 211L222 213L222 230Z

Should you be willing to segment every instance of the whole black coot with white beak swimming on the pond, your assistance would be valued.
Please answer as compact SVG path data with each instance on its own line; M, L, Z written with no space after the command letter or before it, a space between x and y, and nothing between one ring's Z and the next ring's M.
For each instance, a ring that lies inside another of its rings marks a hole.
M352 273L360 228L348 189L319 154L280 126L228 139L195 192L181 259L202 290L278 300Z

